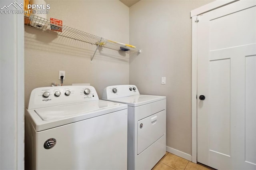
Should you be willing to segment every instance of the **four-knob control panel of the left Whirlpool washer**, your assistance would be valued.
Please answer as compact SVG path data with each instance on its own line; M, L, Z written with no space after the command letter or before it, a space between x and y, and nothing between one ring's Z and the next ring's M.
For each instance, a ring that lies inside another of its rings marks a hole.
M39 87L32 90L28 109L94 101L98 99L98 94L92 86Z

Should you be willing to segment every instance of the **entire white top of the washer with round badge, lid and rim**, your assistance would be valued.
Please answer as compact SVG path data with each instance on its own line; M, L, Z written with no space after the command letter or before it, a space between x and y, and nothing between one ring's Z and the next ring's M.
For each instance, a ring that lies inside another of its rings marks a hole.
M36 132L39 132L122 110L127 111L127 105L96 100L40 109L28 109L26 116L28 116Z

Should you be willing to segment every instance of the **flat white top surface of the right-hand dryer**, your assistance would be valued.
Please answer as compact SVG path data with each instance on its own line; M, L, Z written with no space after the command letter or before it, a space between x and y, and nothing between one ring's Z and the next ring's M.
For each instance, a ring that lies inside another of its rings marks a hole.
M153 96L153 95L135 95L128 97L119 97L114 99L108 99L108 101L114 101L118 103L124 103L128 106L137 107L141 105L146 105L155 101L160 101L166 99L165 96Z

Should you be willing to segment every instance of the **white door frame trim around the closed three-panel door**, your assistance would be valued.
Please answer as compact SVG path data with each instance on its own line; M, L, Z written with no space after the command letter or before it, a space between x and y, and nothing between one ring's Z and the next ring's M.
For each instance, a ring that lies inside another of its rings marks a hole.
M197 22L200 15L238 0L216 0L190 12L192 18L192 162L197 163ZM198 17L199 16L199 17Z

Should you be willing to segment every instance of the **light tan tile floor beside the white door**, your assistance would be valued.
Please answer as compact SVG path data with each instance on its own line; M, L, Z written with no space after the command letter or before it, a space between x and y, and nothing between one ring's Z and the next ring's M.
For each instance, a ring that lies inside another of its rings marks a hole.
M210 170L202 165L195 164L184 158L166 152L165 156L152 170Z

